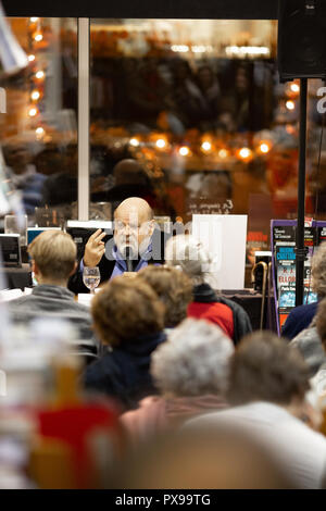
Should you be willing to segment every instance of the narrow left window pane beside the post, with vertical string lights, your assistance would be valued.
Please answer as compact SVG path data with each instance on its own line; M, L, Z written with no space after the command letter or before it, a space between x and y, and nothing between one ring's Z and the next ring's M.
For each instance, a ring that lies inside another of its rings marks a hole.
M2 70L7 113L0 137L10 185L28 223L59 226L77 217L77 21L7 18L28 66Z

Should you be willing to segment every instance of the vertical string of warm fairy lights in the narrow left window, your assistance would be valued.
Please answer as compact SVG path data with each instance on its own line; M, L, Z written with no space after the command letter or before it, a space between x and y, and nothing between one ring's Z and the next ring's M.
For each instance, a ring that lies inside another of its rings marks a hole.
M30 119L37 139L45 136L46 132L41 123L40 102L45 94L46 71L38 59L40 45L43 41L43 32L40 17L29 17L28 21L29 54L33 74L29 89L29 105L27 114Z

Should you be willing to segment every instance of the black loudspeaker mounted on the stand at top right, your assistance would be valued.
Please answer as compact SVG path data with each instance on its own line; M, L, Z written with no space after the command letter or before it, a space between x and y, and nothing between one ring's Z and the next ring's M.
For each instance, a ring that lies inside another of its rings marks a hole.
M278 1L280 82L326 78L326 1Z

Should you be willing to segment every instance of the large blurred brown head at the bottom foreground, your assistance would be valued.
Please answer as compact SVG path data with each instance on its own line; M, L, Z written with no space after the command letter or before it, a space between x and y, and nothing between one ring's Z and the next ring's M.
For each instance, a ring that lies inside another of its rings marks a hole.
M115 489L293 488L283 469L253 438L221 425L204 432L170 433L141 444L114 475L110 487ZM193 503L210 502L205 496Z

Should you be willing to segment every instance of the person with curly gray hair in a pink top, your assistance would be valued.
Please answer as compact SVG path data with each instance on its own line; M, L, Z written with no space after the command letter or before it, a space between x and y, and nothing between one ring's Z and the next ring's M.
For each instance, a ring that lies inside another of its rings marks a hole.
M152 354L151 375L161 398L148 397L121 420L135 444L198 414L226 407L234 345L218 326L187 319Z

